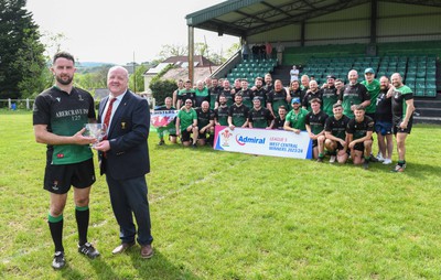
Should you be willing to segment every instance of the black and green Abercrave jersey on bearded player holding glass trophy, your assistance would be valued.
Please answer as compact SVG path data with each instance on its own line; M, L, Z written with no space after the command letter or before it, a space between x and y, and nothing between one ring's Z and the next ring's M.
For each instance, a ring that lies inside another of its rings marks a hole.
M74 136L88 119L96 119L94 98L80 88L74 87L67 94L54 86L35 98L33 125L46 125L54 134ZM49 144L47 157L51 164L58 165L83 162L93 153L88 144Z

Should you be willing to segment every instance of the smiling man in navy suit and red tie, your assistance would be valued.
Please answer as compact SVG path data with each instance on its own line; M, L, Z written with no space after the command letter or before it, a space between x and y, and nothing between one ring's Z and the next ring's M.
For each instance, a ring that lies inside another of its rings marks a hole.
M107 86L110 94L101 100L98 111L98 122L108 125L107 139L95 149L99 151L100 171L106 174L111 207L120 227L121 244L112 254L123 252L135 245L133 214L141 257L151 258L153 237L146 182L146 174L150 172L147 143L150 110L147 99L128 89L128 82L126 68L115 66L109 69Z

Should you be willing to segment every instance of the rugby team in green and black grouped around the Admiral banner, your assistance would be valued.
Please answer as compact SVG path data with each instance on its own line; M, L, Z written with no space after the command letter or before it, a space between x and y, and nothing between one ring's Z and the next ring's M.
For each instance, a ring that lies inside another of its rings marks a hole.
M249 87L247 79L207 77L193 86L191 80L178 80L178 89L155 110L175 110L174 121L158 128L160 146L169 133L172 143L181 139L183 146L213 144L215 126L257 129L306 131L313 143L313 158L323 162L354 164L368 169L369 162L391 164L394 134L398 162L394 172L406 169L406 138L412 128L415 111L412 90L395 73L375 78L375 71L366 68L365 79L358 82L354 69L348 83L334 75L319 86L308 75L300 82L291 76L289 87L270 74L257 77ZM373 155L373 133L377 133L378 153Z

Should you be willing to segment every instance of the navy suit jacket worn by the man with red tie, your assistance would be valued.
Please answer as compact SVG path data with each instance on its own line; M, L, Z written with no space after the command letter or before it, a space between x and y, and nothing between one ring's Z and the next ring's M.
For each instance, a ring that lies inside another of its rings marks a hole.
M98 122L109 97L99 103ZM101 175L106 173L115 180L142 176L150 172L148 137L150 130L150 109L147 99L126 91L115 111L108 129L110 150L98 153Z

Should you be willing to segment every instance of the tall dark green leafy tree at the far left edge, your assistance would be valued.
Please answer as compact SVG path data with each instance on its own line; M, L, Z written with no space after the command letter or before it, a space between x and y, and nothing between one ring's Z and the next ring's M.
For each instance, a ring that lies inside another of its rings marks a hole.
M29 97L46 85L44 45L25 4L25 0L0 2L0 98Z

